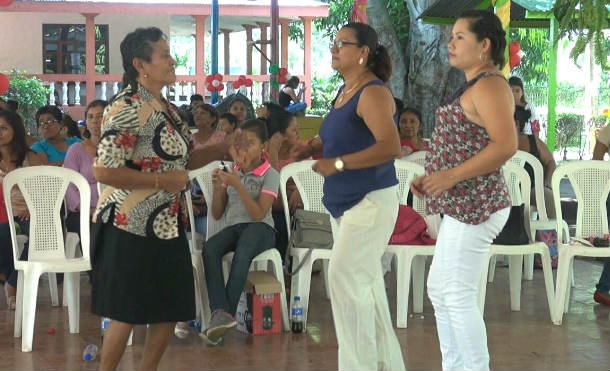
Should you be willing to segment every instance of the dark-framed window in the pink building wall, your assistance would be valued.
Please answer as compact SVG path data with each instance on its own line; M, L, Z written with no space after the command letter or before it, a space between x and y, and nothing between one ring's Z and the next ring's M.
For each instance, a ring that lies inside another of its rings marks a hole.
M44 73L84 74L84 24L42 25L42 66ZM95 26L95 72L108 73L108 25Z

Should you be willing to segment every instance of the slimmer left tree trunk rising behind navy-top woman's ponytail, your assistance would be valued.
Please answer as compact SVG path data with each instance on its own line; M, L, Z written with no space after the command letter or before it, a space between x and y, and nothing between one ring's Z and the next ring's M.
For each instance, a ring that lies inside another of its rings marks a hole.
M387 2L388 0L367 1L367 23L377 31L379 42L388 49L392 59L392 76L388 81L388 87L396 98L402 100L404 99L407 68L405 56L388 13Z

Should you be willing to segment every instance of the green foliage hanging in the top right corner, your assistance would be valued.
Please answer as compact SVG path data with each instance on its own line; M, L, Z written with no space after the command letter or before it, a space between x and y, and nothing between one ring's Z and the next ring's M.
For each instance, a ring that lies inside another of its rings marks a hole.
M559 39L568 36L575 40L570 57L577 63L587 45L591 45L595 63L610 69L610 48L604 29L610 26L608 9L610 0L557 0L553 13L559 22Z

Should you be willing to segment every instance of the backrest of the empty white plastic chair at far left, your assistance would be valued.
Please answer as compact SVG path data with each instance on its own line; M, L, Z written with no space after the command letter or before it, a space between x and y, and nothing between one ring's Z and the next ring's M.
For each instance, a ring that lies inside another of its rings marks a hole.
M30 212L30 236L28 261L66 259L61 225L61 205L68 185L72 183L80 195L80 236L83 258L89 260L89 206L91 189L89 182L74 170L57 166L30 166L9 172L3 180L3 192L10 200L10 191L17 186ZM13 259L18 265L17 236L13 220L13 208L6 203L9 217Z

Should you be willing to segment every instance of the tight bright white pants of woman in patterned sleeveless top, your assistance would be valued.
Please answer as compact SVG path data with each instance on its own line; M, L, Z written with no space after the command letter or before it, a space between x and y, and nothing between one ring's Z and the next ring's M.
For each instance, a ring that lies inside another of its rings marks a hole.
M443 370L489 370L485 322L478 307L479 284L489 248L508 220L510 208L477 225L445 216L428 275Z

